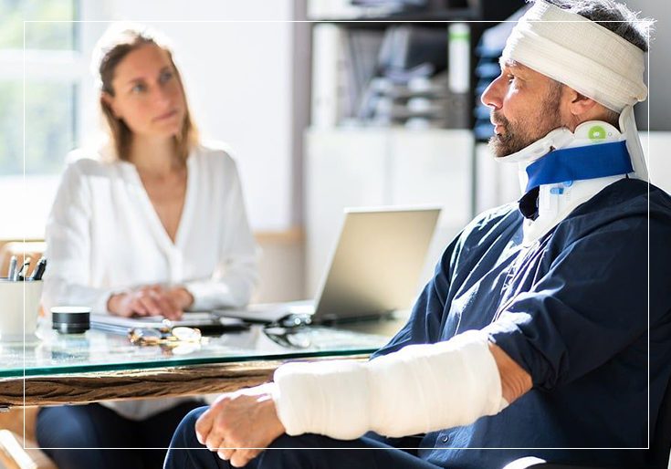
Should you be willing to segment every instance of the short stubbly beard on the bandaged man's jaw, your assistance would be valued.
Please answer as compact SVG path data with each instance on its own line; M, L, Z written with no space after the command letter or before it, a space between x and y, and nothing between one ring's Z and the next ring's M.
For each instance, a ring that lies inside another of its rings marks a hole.
M528 147L534 141L545 137L550 130L561 126L560 118L561 85L550 89L539 106L535 116L523 116L516 122L510 122L498 111L491 112L491 119L503 127L501 134L489 139L489 150L497 158L516 153Z

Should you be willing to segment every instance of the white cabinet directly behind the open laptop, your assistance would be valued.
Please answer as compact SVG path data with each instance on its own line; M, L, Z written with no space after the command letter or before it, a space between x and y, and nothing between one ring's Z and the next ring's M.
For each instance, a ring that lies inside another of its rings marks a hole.
M306 294L314 296L345 207L443 207L424 284L447 243L472 216L469 130L340 128L306 133Z

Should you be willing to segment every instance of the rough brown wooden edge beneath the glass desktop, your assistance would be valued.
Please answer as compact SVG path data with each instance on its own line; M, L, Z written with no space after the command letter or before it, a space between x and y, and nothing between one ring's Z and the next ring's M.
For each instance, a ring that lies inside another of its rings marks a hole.
M367 360L367 355L310 360ZM0 408L236 391L272 379L282 360L0 379Z

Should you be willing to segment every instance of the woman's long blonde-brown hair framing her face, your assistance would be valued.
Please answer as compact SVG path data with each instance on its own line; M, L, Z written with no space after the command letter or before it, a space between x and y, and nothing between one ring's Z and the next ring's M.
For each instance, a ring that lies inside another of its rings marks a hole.
M168 54L170 64L173 66L182 89L184 97L184 120L182 130L174 136L174 148L177 157L185 162L189 151L198 142L198 130L191 119L191 111L184 92L182 76L175 66L173 52L168 46L167 40L164 40L158 33L144 26L127 23L110 26L96 45L92 67L94 68L95 75L100 80L100 110L107 123L110 141L113 143L116 157L120 160L128 161L131 151L132 130L129 129L123 120L114 116L110 106L102 99L102 93L105 92L110 96L114 96L111 82L114 78L115 69L121 60L133 50L146 45L160 47Z

